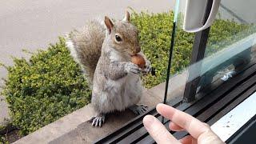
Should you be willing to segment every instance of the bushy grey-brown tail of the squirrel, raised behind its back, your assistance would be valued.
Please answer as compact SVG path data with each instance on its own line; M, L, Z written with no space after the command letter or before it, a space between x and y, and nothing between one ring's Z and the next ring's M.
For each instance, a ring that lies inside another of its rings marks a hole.
M81 30L73 30L66 35L66 46L70 49L74 60L82 66L90 86L92 86L94 70L101 55L105 34L105 26L94 20L86 22Z

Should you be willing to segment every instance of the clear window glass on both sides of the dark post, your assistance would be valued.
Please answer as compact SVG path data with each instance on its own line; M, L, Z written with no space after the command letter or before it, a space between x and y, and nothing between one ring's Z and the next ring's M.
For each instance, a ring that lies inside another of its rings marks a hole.
M178 6L169 98L182 96L186 82L201 77L198 91L216 81L225 82L242 72L255 60L256 1L222 0L218 16L210 27L205 58L190 65L194 34L182 30L184 1ZM190 78L187 78L190 69ZM201 73L193 71L201 70ZM176 95L175 95L176 94ZM170 96L171 95L171 96Z

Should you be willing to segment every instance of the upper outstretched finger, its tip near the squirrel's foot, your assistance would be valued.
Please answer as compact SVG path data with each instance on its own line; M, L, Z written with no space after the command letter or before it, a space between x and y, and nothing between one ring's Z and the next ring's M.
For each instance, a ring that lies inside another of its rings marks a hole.
M210 130L210 126L206 123L200 122L198 119L186 114L180 110L174 109L171 106L158 104L158 113L163 117L170 119L172 122L187 130L188 133L194 138L198 138L201 134Z

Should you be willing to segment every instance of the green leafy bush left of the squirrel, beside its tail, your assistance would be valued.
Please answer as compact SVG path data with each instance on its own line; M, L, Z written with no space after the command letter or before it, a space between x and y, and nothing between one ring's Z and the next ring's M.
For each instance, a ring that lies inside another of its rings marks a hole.
M29 61L14 58L6 66L3 94L10 104L12 124L28 134L90 102L90 88L80 67L70 57L63 38Z

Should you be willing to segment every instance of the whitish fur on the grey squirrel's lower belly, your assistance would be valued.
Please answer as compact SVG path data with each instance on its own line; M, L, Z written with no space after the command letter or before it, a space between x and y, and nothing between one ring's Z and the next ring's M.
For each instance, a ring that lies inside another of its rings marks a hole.
M127 107L137 104L142 96L142 81L137 74L128 74L117 81L107 80L107 89L102 92L102 110L110 112L125 110Z

